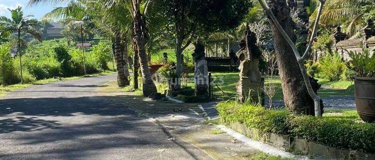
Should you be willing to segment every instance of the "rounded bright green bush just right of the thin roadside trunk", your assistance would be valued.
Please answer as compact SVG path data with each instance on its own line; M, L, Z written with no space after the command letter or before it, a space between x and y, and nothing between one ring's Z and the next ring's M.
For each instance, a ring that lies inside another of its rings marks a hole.
M104 42L92 46L91 54L94 55L96 64L100 69L108 70L107 62L112 60L112 48Z

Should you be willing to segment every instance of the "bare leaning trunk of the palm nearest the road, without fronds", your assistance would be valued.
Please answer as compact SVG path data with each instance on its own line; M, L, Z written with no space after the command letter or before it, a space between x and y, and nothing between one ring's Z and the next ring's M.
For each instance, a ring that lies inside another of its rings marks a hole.
M151 73L148 68L148 61L147 61L147 54L145 50L145 41L144 41L144 34L143 30L145 29L142 14L139 10L139 4L136 4L136 10L134 13L134 35L135 35L135 42L138 48L138 56L139 56L139 64L140 64L140 71L142 72L142 91L144 96L148 96L152 93L157 92L156 86L153 83L151 78Z

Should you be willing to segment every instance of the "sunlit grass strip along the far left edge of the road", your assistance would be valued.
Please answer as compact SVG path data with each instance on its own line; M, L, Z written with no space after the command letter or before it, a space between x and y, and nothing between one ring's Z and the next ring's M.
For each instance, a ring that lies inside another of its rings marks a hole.
M113 71L103 71L103 72L99 72L99 73L87 74L87 75L81 75L81 76L62 77L61 80L72 80L72 79L78 79L78 78L89 77L89 76L108 75L108 74L112 74L112 73L115 73L115 72L113 72ZM14 91L14 90L17 90L17 89L22 89L22 88L28 87L30 85L33 85L33 84L45 84L45 83L49 83L49 82L53 82L53 81L59 81L59 80L60 79L57 79L57 78L48 78L48 79L41 79L41 80L34 81L32 83L26 83L26 84L12 84L12 85L6 85L6 86L1 85L0 86L0 97L5 96L6 92L8 92L8 91Z

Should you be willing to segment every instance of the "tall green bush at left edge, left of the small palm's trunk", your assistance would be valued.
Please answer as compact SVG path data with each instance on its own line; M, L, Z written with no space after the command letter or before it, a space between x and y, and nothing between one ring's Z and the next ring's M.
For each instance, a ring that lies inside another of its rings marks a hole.
M0 85L17 83L20 80L15 74L13 58L10 56L10 46L8 44L0 45Z

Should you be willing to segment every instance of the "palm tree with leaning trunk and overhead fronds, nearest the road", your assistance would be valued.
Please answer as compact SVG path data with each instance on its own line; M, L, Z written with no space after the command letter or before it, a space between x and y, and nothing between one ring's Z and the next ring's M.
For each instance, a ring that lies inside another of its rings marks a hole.
M61 2L61 0L29 0L29 4L36 4L39 2L52 2L52 3L58 3ZM64 1L73 1L73 0L64 0ZM83 0L84 1L84 0ZM90 1L93 2L93 1ZM98 5L101 5L102 7L108 7L112 8L112 6L119 6L121 8L127 8L128 12L127 13L119 13L119 12L111 12L110 15L106 15L106 17L112 16L114 18L113 23L111 24L121 24L122 21L119 20L121 17L128 17L128 15L131 16L131 25L128 27L129 33L131 33L131 36L134 39L136 47L136 51L138 52L138 57L139 57L139 63L140 63L140 68L142 72L142 80L143 80L143 95L149 95L151 93L156 92L156 86L152 81L150 71L148 68L148 60L147 60L147 55L146 55L146 50L145 50L145 45L148 42L148 29L146 26L152 26L153 28L158 28L158 25L149 25L150 23L156 24L155 17L162 17L161 14L156 14L157 9L153 9L153 4L160 4L161 3L156 3L156 0L100 0L97 2ZM104 5L103 5L104 4ZM149 13L148 13L149 12ZM118 15L118 16L117 16ZM147 17L147 18L146 18ZM124 19L124 18L122 18ZM126 23L127 24L127 23ZM117 27L123 29L124 27ZM126 30L126 29L125 29ZM152 29L150 29L152 30ZM134 51L135 53L135 51ZM134 58L135 59L135 58ZM136 63L134 63L134 66ZM135 83L135 82L134 82Z

